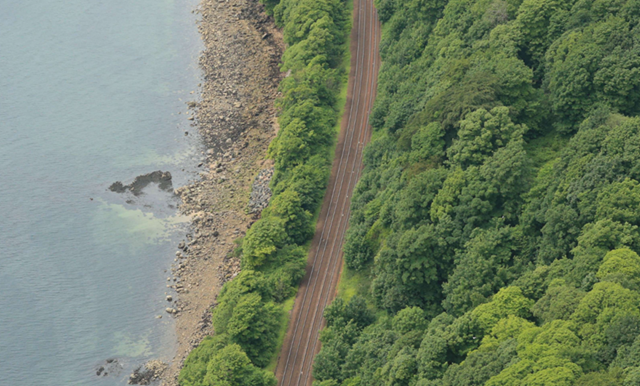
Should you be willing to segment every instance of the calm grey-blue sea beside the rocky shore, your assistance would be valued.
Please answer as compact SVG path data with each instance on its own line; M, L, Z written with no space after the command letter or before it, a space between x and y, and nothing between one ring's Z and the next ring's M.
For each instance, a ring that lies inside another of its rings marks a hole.
M186 222L156 186L107 187L194 176L197 2L0 0L0 385L123 385L172 357ZM122 372L96 377L107 358Z

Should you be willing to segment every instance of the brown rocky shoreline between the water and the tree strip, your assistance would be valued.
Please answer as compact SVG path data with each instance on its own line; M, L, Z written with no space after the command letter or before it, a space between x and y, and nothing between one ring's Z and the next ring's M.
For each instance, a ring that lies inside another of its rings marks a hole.
M201 15L204 82L189 119L206 151L200 180L175 191L192 233L176 252L167 284L177 336L176 356L162 376L167 386L177 385L189 352L213 332L210 310L240 269L233 241L271 196L273 167L265 155L277 132L274 101L283 77L282 36L258 0L203 0L194 12Z

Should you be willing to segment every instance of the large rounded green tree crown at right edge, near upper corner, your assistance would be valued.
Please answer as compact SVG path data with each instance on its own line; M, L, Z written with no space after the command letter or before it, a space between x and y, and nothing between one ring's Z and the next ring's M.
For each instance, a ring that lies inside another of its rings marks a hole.
M628 39L633 28L610 16L564 34L547 53L547 89L564 130L572 129L596 103L603 101L622 112L638 109L632 79L639 56Z

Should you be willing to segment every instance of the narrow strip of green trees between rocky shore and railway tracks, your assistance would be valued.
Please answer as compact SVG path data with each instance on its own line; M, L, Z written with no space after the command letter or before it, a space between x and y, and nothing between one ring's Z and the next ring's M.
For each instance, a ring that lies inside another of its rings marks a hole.
M313 213L330 173L345 81L347 3L264 3L284 28L282 70L290 71L280 85L281 129L268 154L275 162L273 197L242 240L242 272L220 292L212 315L216 335L191 352L182 386L275 386L265 368L282 344L285 311L305 273Z

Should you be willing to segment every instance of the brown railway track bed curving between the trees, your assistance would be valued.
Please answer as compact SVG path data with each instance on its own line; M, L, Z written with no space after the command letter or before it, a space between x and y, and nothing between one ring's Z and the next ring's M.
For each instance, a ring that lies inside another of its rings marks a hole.
M329 186L311 243L307 275L300 284L276 377L279 386L310 386L322 313L335 296L342 267L342 243L349 197L362 170L362 150L371 136L369 113L377 89L380 24L373 0L354 0L351 72L340 137Z

